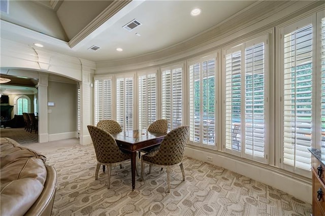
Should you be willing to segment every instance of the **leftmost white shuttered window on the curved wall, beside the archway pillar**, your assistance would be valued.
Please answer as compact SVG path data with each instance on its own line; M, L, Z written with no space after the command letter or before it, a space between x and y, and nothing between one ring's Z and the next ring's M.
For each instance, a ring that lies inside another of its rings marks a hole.
M94 81L94 124L112 119L112 77L95 78Z

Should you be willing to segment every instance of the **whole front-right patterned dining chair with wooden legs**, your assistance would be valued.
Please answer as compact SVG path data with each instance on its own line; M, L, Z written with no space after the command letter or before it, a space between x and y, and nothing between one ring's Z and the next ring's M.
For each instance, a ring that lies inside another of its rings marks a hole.
M154 152L148 152L141 157L141 178L143 181L144 163L149 165L158 165L167 167L167 193L170 192L169 172L170 166L179 165L185 181L185 172L183 167L184 148L188 138L189 126L180 126L170 131L160 144L160 148ZM149 166L149 173L151 166Z

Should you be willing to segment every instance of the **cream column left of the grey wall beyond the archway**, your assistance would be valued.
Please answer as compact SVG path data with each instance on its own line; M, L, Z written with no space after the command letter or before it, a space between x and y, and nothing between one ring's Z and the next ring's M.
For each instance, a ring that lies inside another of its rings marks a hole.
M39 75L38 83L38 113L39 113L39 142L48 142L48 119L47 119L47 86L48 74Z

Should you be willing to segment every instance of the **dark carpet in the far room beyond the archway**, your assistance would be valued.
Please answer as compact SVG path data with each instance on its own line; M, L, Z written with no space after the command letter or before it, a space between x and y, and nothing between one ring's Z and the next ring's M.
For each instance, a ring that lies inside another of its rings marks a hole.
M14 139L19 144L34 143L39 141L39 134L35 133L35 130L30 133L25 131L23 127L22 128L1 128L0 136Z

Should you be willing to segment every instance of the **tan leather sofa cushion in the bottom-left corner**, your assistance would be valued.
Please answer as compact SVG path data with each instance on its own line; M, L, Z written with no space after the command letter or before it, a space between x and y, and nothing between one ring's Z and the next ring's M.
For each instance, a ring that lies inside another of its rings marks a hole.
M39 158L19 158L3 166L1 215L24 214L42 193L46 175L46 167Z

